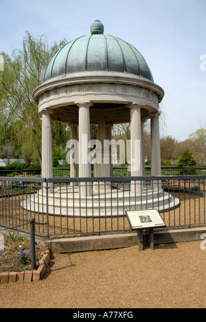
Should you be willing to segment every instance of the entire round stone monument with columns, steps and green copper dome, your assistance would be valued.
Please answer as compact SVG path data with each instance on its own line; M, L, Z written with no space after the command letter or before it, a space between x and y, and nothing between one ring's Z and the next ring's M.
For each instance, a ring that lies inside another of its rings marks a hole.
M56 53L47 67L44 83L34 90L33 96L42 117L43 178L53 176L52 121L69 124L71 139L78 140L78 157L71 162L71 178L91 178L91 160L88 158L93 147L89 143L90 125L98 125L99 143L93 153L94 177L108 178L112 176L111 144L108 144L111 128L126 122L130 122L131 176L144 175L143 124L150 119L152 175L161 175L159 103L164 96L163 89L154 83L150 68L139 51L122 39L104 34L104 25L100 21L92 23L90 35L70 41ZM130 182L127 191L119 190L118 197L115 197L117 189L111 182L102 185L103 192L100 184L95 189L95 182L92 186L86 182L81 182L81 186L77 184L71 184L75 193L70 195L63 188L51 188L49 213L54 213L55 206L56 214L69 215L71 207L71 214L79 215L78 202L73 201L75 198L81 198L81 211L85 204L82 215L90 215L91 207L94 216L105 215L105 207L106 215L111 215L110 204L113 215L119 213L122 204L124 215L126 210L132 210L133 202L135 209L138 208L138 197L141 208L154 208L155 199L159 210L161 206L174 206L175 202L170 194L163 192L159 182L150 189L138 181L135 184ZM96 205L95 198L98 200ZM116 206L115 198L118 199ZM40 207L40 200L40 197L38 200L34 197L30 204L35 207L38 202Z

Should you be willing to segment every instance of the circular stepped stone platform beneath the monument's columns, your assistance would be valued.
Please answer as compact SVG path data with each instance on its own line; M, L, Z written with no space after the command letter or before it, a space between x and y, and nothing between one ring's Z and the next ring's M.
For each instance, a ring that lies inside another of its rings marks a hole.
M142 195L131 195L129 186L111 191L93 192L91 197L82 197L78 186L54 188L48 194L48 212L50 215L69 217L115 217L123 216L126 211L157 208L167 211L179 206L179 199L166 193L163 189L145 188ZM46 191L38 191L22 202L28 211L47 213Z

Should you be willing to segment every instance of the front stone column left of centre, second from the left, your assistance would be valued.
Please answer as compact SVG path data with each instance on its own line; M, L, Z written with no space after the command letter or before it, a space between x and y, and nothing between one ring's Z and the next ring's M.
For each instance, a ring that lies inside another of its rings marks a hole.
M90 112L91 103L77 104L79 107L79 177L91 178L91 164L89 163L90 141ZM91 196L91 184L81 182L81 196Z

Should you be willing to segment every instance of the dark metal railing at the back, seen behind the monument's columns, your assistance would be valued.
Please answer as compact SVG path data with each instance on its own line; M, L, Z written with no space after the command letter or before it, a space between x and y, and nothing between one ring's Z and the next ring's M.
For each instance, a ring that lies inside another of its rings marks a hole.
M93 176L93 169L91 169ZM130 176L130 167L113 167L114 177L128 177ZM145 168L145 175L152 175L151 167ZM206 175L206 168L204 167L161 167L161 175ZM1 170L1 177L31 177L40 178L41 169L25 169L25 170ZM54 178L69 178L69 168L53 169Z

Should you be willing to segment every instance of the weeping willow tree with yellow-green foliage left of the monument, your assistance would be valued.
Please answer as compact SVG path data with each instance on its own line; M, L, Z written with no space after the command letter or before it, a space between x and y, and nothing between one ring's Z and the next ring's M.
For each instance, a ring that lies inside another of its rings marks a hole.
M64 39L49 47L45 35L36 39L26 32L23 50L14 50L11 56L1 53L4 70L0 78L0 151L10 142L15 147L14 157L41 164L41 118L32 92L43 83L49 61L65 43ZM59 137L58 130L66 132L65 125L54 125L54 140Z

